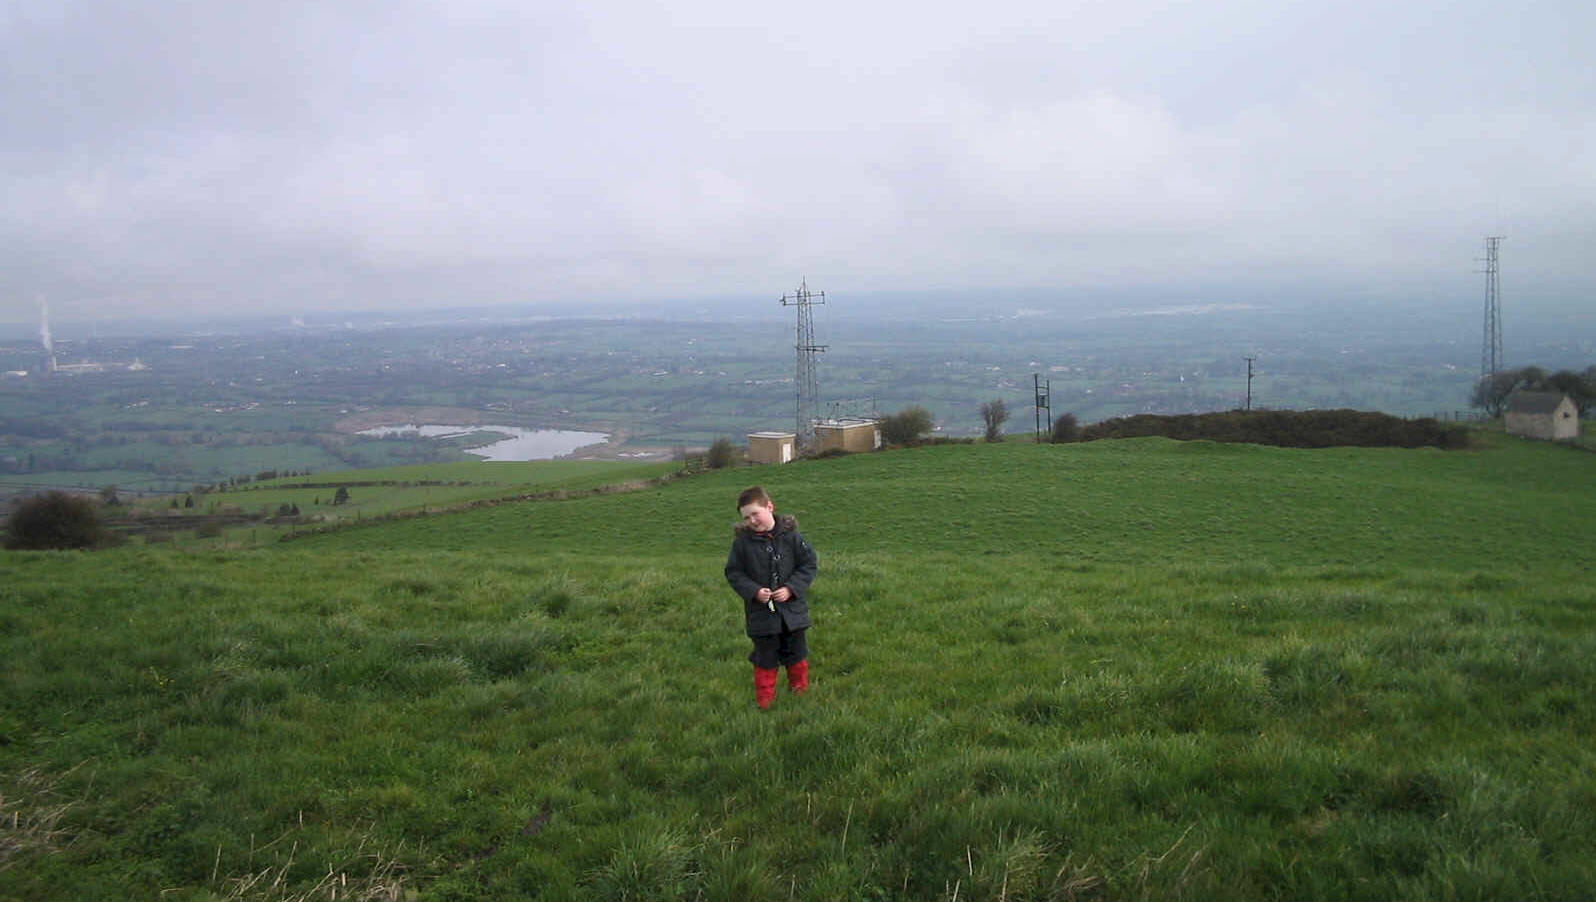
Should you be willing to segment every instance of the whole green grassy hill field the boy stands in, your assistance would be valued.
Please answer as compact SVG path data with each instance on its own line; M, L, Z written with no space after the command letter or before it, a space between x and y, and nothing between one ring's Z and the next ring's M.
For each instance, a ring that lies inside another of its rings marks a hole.
M1138 439L0 557L0 899L1586 899L1596 457ZM758 712L720 567L820 552Z

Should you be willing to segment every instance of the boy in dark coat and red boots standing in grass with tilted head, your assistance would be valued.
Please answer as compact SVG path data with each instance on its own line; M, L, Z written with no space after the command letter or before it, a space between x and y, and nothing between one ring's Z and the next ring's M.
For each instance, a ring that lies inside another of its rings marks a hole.
M753 640L753 701L761 709L776 699L777 666L787 667L787 688L809 688L809 605L804 592L819 559L798 535L798 520L776 516L764 489L737 495L737 528L726 556L726 581L742 597L749 639Z

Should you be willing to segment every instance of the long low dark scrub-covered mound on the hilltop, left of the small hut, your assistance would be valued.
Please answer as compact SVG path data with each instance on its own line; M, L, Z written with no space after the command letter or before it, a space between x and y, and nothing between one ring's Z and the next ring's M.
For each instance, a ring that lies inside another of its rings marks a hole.
M1055 431L1057 433L1057 431ZM1290 449L1468 445L1468 428L1435 418L1404 420L1368 410L1227 410L1219 413L1138 413L1080 428L1080 441L1163 436L1248 442Z

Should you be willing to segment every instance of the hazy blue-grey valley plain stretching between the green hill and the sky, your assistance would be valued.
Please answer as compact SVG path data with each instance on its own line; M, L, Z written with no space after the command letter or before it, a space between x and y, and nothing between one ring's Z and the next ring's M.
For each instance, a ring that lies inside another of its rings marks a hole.
M1047 310L1004 294L852 299L817 308L820 413L919 404L938 434L982 431L1002 399L1009 431L1034 428L1034 380L1052 415L1353 407L1467 415L1478 378L1472 310L1404 316L1267 299ZM1462 305L1459 305L1462 307ZM664 311L662 311L664 313ZM260 471L474 460L487 437L361 434L373 426L503 425L602 433L584 457L669 458L726 436L792 429L793 321L776 299L643 313L350 315L276 326L211 322L164 335L56 327L0 345L0 481L184 490ZM121 334L118 334L121 332ZM1515 366L1583 369L1588 332L1508 318ZM493 437L493 436L488 436Z

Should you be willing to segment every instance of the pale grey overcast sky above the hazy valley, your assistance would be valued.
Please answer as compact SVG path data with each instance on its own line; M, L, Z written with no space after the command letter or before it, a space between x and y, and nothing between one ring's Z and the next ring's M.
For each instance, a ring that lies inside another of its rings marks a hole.
M1590 0L940 6L0 0L0 321L1596 300Z

